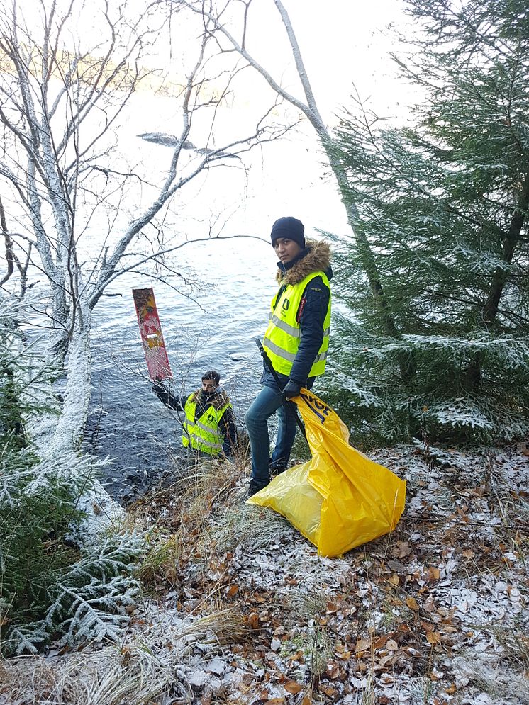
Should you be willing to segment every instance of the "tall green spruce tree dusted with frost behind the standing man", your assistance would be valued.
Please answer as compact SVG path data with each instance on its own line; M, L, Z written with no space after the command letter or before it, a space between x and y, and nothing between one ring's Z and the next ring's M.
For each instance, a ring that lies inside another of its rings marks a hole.
M394 60L420 103L405 127L357 103L334 145L385 293L381 308L338 244L335 402L357 441L513 439L529 430L529 8L406 8L416 35Z

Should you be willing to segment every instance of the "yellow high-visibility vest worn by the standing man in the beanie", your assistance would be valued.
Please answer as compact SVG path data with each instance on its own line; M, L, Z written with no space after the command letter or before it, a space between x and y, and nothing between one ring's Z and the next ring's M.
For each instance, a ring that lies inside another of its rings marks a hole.
M272 362L274 370L283 375L290 374L292 365L296 359L299 342L301 340L301 329L296 317L305 288L308 282L316 276L321 276L323 283L329 289L329 303L325 321L323 322L323 342L308 376L316 377L323 375L325 371L325 360L327 359L330 333L330 285L325 273L316 271L308 274L308 276L297 284L287 284L279 300L277 300L277 295L281 290L279 290L272 299L270 320L262 346L267 351L267 355Z

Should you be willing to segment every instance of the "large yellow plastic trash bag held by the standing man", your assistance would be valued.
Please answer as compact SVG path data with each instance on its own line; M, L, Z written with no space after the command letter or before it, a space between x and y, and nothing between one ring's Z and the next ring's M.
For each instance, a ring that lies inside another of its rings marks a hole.
M406 482L348 444L349 431L306 389L294 397L312 459L277 475L247 500L272 507L320 555L340 555L393 531L404 509Z

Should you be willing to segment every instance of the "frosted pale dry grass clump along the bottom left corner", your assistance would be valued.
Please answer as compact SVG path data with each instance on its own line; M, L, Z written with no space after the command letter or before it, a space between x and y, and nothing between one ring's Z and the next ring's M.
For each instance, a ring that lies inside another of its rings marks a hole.
M191 701L182 666L194 645L211 653L240 641L242 616L223 609L174 626L164 614L126 641L99 650L67 653L54 660L28 656L0 661L0 704L151 705L170 694Z

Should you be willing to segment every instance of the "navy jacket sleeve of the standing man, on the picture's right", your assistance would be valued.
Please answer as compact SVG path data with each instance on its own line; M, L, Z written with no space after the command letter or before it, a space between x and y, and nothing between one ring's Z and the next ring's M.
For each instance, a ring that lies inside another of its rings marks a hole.
M298 316L301 340L289 378L302 386L306 385L308 373L323 342L323 323L327 315L330 291L321 276L308 282Z

